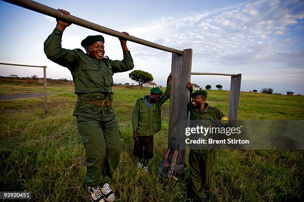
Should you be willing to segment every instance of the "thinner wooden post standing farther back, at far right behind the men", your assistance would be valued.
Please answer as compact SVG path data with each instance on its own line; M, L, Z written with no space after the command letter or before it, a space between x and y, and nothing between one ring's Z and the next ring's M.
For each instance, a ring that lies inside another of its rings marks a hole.
M230 120L237 119L241 76L242 76L241 74L237 74L237 76L231 76L229 107L228 107L228 118Z

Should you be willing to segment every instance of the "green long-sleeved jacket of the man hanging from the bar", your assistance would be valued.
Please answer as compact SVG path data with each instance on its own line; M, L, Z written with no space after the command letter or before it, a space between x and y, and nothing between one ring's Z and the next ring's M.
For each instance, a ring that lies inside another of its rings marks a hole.
M53 62L67 67L73 76L75 94L82 100L113 100L113 74L133 69L130 51L124 50L123 60L103 57L97 60L80 49L68 50L61 47L63 32L57 28L44 42L44 52Z

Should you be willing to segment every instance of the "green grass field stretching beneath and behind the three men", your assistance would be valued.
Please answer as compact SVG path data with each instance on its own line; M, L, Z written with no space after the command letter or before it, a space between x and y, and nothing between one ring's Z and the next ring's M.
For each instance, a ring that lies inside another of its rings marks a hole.
M41 93L33 84L0 84L0 95ZM0 191L28 191L33 201L89 201L83 188L85 153L72 116L76 101L71 85L48 85L48 114L43 98L0 101ZM131 116L136 99L149 89L114 88L114 108L121 131L120 163L111 187L121 202L190 202L185 178L166 188L155 171L166 148L169 101L162 108L162 130L154 137L150 173L136 167L132 155ZM227 91L209 91L207 102L228 112ZM303 120L304 97L241 92L242 120ZM188 153L188 152L187 152ZM188 161L186 155L186 163ZM209 202L300 202L304 152L278 150L217 151Z

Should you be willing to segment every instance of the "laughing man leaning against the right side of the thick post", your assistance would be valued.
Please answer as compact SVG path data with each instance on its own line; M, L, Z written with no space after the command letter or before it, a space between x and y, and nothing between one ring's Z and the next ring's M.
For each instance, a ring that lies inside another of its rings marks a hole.
M224 117L223 112L216 107L206 103L207 91L198 90L192 93L191 83L187 84L190 91L190 101L188 110L190 111L190 120L221 120ZM210 189L213 170L214 170L215 150L190 150L190 187L193 198L204 202L205 192Z

